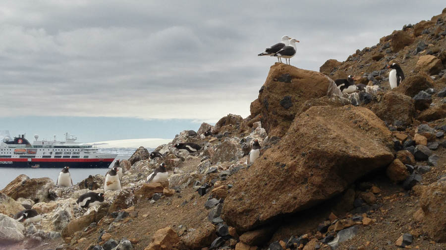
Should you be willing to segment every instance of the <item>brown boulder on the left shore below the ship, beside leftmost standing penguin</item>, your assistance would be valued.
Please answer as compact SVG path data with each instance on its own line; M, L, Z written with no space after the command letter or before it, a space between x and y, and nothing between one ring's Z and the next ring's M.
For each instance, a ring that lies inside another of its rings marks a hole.
M28 198L35 203L50 201L50 189L54 188L51 178L33 178L21 174L12 180L1 192L14 200Z

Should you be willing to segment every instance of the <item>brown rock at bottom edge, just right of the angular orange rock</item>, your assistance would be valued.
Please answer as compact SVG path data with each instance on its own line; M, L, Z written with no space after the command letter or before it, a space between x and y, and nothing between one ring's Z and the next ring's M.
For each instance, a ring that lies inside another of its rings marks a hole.
M217 238L215 231L214 225L207 223L198 229L192 228L187 230L187 234L182 236L181 240L187 249L201 249L210 246Z

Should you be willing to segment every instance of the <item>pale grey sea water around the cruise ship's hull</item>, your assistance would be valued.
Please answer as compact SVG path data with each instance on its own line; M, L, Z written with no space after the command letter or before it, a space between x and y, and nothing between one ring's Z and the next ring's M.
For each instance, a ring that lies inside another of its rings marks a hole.
M149 152L153 149L149 149ZM105 154L118 154L116 160L128 159L135 152L135 148L102 148L99 149L100 153ZM111 166L114 165L114 161ZM0 190L3 189L9 182L15 179L20 174L26 174L30 178L49 177L52 178L56 184L57 177L61 169L58 168L12 168L1 167L0 168ZM70 174L73 183L76 184L83 179L87 178L90 174L103 174L105 175L109 169L107 168L71 168Z

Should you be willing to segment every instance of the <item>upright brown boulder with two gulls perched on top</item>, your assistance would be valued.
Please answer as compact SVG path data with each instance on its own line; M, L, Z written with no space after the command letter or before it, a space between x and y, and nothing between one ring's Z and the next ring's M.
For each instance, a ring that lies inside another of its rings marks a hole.
M268 136L283 136L306 100L327 95L329 77L283 63L271 66L260 89L262 127Z

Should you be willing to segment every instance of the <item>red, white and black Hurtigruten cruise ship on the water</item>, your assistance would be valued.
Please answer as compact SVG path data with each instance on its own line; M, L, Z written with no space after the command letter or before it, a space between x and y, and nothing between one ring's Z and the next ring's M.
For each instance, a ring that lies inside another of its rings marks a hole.
M76 141L76 137L65 133L65 141L39 140L34 135L31 144L24 134L11 138L9 131L0 131L0 167L110 167L116 154L101 154L92 145Z

